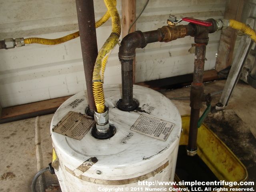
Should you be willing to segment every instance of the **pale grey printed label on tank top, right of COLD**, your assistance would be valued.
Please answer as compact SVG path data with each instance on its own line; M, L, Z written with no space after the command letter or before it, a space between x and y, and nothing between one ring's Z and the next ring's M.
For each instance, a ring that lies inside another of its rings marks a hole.
M174 123L142 114L130 130L161 141L166 141L174 126Z

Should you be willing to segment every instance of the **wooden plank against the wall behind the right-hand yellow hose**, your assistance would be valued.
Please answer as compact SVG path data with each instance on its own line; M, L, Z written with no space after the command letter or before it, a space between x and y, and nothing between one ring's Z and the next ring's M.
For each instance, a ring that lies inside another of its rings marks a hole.
M243 7L244 0L227 0L224 18L240 21ZM221 32L220 44L215 64L215 70L217 72L231 65L235 42L235 29L227 28Z

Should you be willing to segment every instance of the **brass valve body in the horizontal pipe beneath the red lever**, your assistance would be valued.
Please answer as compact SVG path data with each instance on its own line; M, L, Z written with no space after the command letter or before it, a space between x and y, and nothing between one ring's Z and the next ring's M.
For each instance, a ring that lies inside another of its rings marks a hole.
M178 38L184 38L187 34L186 27L184 25L168 25L160 28L164 34L164 38L161 42L170 42Z

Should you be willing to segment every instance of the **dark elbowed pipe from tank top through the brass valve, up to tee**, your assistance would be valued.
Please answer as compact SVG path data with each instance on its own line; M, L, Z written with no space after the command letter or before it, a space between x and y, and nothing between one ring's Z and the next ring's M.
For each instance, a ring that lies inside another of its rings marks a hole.
M136 48L144 48L152 42L170 42L177 38L193 35L195 32L192 24L186 26L168 25L148 32L135 31L123 38L118 52L122 70L122 98L117 103L120 110L131 111L138 107L138 102L133 98L132 90L132 62L135 58Z

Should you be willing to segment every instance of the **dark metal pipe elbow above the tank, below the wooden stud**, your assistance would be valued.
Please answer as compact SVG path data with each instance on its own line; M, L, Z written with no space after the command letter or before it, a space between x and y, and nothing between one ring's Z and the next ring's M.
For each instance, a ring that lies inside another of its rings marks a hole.
M119 47L119 60L133 60L136 48L144 48L147 45L144 35L141 31L135 31L126 35Z

